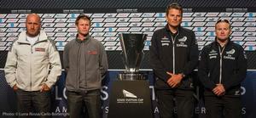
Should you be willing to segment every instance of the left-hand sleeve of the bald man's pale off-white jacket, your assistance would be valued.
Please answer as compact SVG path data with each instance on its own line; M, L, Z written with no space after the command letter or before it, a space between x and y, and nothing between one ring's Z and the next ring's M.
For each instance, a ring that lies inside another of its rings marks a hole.
M5 78L10 87L14 87L16 81L16 70L17 70L17 54L15 50L15 42L9 48L7 60L4 66Z

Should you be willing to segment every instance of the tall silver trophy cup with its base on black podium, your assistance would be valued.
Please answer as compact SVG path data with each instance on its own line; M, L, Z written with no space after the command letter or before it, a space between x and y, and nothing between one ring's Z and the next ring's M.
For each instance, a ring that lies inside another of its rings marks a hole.
M119 80L142 80L143 74L139 73L139 67L143 60L143 48L146 34L119 34L122 47L122 59L125 64L125 72L119 74Z

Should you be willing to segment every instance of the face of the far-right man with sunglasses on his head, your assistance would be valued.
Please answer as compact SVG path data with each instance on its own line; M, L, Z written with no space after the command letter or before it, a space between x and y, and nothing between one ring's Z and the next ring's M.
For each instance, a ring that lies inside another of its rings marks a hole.
M226 41L230 37L230 24L226 22L220 22L215 26L216 37L219 41Z

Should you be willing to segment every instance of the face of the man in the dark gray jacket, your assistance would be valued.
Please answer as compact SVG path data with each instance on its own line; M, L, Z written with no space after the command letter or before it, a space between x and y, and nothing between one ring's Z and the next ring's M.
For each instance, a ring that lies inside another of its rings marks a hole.
M87 35L90 31L90 21L80 19L78 25L76 25L80 35Z

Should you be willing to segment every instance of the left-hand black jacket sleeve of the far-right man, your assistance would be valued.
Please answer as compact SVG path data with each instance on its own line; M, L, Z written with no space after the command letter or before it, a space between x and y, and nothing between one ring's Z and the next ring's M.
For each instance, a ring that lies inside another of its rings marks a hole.
M214 87L216 87L215 83L210 80L208 73L209 73L209 68L208 68L208 58L207 58L207 50L206 48L203 48L200 54L200 61L199 61L199 66L198 66L198 76L199 80L203 84L204 87L207 89L212 90Z

